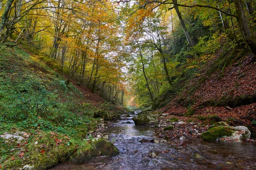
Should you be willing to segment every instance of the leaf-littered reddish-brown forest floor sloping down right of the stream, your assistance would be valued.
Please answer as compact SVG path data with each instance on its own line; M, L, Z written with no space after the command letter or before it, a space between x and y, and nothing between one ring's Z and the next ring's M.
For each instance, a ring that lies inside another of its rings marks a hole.
M170 139L179 139L181 136L199 138L209 125L225 121L231 126L247 126L252 134L251 139L255 139L256 62L250 63L252 57L247 54L242 61L234 62L221 74L218 71L206 78L213 59L199 76L185 85L185 90L157 110L162 112L162 116L158 117L158 136ZM186 124L166 123L173 117ZM175 127L173 130L163 131L163 127L171 124Z

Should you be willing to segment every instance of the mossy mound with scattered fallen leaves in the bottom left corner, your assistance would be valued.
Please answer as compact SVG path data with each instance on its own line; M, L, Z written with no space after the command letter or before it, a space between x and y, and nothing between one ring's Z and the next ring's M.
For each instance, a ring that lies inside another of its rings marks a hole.
M29 142L23 158L15 158L5 162L6 169L46 170L54 167L59 161L64 161L76 150L75 142L64 134L43 133L37 139ZM15 155L18 155L18 151Z

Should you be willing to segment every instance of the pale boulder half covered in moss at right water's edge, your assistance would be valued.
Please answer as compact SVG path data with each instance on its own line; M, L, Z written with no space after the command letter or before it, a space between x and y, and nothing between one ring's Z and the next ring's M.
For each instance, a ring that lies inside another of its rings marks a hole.
M207 131L202 133L201 138L205 141L211 142L243 142L245 139L250 139L250 135L250 130L245 126L233 127L220 125L209 128Z

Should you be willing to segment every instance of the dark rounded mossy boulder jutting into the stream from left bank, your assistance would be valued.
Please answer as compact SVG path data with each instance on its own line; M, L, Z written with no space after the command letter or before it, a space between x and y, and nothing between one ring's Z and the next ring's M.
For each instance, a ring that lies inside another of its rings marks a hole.
M94 139L89 145L87 140L84 140L84 144L79 146L69 161L73 164L82 164L98 156L115 156L117 154L119 154L119 150L113 143L105 139Z

